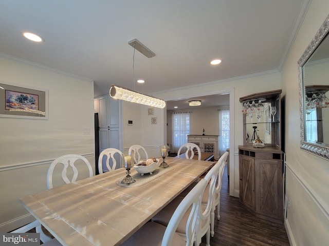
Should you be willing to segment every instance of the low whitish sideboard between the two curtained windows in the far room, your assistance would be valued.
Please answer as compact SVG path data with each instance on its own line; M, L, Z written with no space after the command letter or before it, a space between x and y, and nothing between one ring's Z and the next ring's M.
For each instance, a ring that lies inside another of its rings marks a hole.
M188 135L187 140L200 147L201 152L214 153L215 160L220 158L218 135Z

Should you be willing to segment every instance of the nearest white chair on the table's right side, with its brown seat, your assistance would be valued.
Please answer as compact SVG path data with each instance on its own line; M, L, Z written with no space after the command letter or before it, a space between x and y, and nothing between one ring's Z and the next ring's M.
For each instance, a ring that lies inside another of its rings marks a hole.
M198 224L198 214L201 209L200 201L206 186L207 181L205 179L197 183L191 192L179 202L167 226L153 221L148 222L121 245L192 246ZM179 222L186 214L188 214L188 219L184 227L186 235L186 239L184 239L176 233L176 230L179 226Z

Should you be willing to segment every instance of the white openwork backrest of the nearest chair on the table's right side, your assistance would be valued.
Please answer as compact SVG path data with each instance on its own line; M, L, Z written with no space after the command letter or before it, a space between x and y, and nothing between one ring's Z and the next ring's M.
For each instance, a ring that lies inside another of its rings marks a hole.
M166 232L162 238L161 246L171 245L172 238L178 227L178 224L190 207L192 207L192 209L186 224L186 245L193 245L198 214L201 210L201 198L206 186L207 181L205 179L200 180L197 185L189 192L189 194L187 194L186 197L179 203L168 223Z

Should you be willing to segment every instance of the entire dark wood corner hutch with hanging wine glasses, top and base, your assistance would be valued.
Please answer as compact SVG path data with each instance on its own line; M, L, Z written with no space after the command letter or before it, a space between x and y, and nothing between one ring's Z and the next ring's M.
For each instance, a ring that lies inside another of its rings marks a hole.
M281 150L281 90L252 94L240 98L265 98L269 105L277 107L275 121L251 123L252 126L269 124L270 142L265 148L254 148L246 141L239 146L239 200L254 216L272 222L283 223L283 151ZM242 107L242 106L241 106ZM247 115L244 117L244 133L247 132ZM250 122L250 121L249 121ZM250 124L250 123L249 123ZM249 127L250 128L250 127Z

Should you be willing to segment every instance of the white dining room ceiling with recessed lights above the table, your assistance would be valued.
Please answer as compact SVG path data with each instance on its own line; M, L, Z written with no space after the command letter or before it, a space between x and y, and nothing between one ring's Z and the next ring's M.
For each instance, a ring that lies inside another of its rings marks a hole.
M308 2L2 0L0 52L92 79L95 96L113 84L152 95L280 70ZM136 51L133 72L134 38L156 56ZM214 58L222 64L211 66Z

